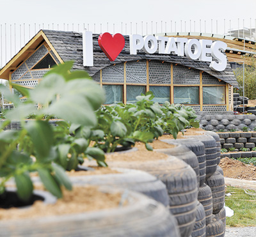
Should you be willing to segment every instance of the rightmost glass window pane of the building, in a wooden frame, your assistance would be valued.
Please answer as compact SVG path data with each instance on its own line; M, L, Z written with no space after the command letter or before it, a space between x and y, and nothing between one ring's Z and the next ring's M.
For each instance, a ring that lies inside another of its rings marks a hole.
M204 105L225 104L225 86L204 86L203 103Z

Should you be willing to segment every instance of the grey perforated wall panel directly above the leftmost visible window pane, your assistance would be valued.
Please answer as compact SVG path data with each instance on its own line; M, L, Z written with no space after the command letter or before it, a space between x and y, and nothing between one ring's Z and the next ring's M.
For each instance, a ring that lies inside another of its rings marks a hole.
M124 63L103 68L102 82L124 83Z

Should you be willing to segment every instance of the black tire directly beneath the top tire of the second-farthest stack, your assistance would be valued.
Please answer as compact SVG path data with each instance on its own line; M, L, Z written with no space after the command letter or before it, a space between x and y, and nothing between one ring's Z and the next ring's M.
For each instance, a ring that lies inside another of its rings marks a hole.
M198 201L204 206L205 223L209 224L212 220L212 191L207 185L202 185L198 192Z

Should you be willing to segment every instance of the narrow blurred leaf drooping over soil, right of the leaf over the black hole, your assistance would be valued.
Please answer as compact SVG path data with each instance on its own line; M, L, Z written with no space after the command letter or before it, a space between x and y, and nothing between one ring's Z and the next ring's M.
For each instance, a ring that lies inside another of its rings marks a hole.
M54 177L52 176L51 172L49 169L38 169L38 174L40 176L40 180L44 184L45 188L51 192L52 195L61 198L62 193L60 189L60 185L56 182Z

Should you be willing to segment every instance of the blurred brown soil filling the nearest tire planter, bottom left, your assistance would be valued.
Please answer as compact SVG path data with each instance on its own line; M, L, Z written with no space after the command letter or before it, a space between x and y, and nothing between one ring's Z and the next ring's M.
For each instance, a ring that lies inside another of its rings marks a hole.
M58 199L55 204L45 206L42 201L36 201L31 208L26 209L10 208L4 210L0 208L0 220L32 219L116 208L120 203L121 195L120 192L106 194L93 186L73 187L71 192L63 190L63 199Z

